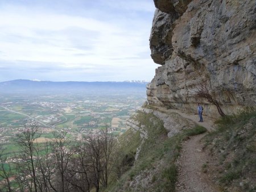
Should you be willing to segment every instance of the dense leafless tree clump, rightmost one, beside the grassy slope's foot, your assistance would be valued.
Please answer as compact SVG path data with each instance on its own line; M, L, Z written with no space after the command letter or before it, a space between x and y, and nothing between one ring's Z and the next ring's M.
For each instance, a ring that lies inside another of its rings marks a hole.
M80 191L90 191L92 185L96 187L96 191L100 190L100 186L107 187L114 166L113 134L106 127L97 134L90 133L79 144L77 156L72 159L76 167L69 171L71 184Z

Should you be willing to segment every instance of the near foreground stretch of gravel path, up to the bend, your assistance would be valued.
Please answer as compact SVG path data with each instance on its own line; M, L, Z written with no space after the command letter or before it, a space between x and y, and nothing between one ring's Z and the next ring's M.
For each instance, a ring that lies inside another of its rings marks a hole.
M176 191L181 192L213 192L214 185L207 174L203 173L203 166L208 161L208 155L203 151L200 140L204 134L190 137L184 141L183 149L177 160L179 170Z

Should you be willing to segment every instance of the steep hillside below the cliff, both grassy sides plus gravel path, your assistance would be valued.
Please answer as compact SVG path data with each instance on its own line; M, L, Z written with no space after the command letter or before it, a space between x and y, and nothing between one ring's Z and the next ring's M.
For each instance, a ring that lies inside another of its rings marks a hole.
M118 140L105 191L256 191L255 110L225 116L208 132L176 112L146 107Z

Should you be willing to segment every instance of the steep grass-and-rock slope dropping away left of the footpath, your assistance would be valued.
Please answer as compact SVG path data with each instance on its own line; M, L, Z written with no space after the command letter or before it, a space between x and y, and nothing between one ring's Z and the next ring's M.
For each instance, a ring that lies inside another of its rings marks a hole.
M119 138L117 174L105 191L175 191L175 162L182 141L207 130L174 112L167 115L145 108L129 124Z

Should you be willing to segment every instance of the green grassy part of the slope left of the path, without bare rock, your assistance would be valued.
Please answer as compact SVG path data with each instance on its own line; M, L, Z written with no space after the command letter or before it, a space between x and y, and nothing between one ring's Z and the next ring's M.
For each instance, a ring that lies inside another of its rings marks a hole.
M134 120L140 122L140 126L144 126L148 138L141 145L139 131L134 132L130 129L122 135L119 139L121 147L118 161L123 162L123 159L128 159L129 161L126 162L129 162L130 166L127 166L121 174L112 176L112 182L105 191L174 191L177 177L174 162L179 156L181 141L187 136L205 132L205 128L197 126L168 138L162 120L153 114L138 112ZM141 152L132 166L139 145ZM132 164L131 160L133 160Z

